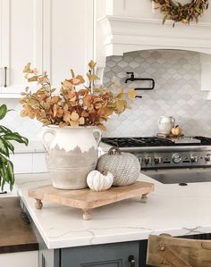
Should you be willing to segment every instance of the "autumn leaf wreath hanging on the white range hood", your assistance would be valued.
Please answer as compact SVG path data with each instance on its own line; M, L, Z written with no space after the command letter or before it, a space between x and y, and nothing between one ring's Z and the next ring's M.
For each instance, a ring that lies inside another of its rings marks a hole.
M173 27L176 22L190 24L190 21L198 22L204 10L208 8L208 0L191 0L189 4L180 4L173 0L151 0L156 4L156 9L160 9L163 16L163 24L166 20L173 21Z

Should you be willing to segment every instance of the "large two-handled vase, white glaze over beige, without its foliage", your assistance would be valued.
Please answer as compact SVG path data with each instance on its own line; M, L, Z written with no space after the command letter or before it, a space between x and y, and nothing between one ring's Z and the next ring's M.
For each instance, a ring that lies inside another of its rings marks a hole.
M54 188L87 188L87 175L97 165L100 139L101 131L95 127L44 128L46 166Z

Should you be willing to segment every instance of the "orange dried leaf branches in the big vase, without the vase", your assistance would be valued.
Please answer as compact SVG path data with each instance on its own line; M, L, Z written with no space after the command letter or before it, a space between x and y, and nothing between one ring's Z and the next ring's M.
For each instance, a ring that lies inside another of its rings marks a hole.
M21 116L36 118L44 125L97 126L105 129L103 122L113 113L122 113L128 104L120 84L115 81L108 88L95 88L94 82L98 79L95 67L96 63L90 61L87 74L89 87L84 86L85 80L81 75L75 76L72 71L72 79L64 79L60 94L54 95L55 88L52 88L46 72L39 74L28 63L23 70L25 78L29 82L37 81L38 90L33 93L26 88L21 94ZM128 97L135 99L135 90L129 89Z

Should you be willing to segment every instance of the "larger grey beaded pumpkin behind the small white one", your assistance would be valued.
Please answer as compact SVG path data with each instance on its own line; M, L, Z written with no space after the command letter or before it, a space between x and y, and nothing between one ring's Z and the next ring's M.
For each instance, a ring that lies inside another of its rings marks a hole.
M114 186L128 186L139 178L140 164L134 154L123 153L119 148L112 147L107 154L98 158L97 170L111 172Z

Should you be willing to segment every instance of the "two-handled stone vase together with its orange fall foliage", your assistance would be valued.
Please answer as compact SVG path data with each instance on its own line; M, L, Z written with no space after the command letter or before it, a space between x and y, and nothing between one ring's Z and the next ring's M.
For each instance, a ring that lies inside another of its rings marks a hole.
M112 82L108 88L96 88L94 82L96 63L89 63L89 87L81 75L72 72L71 79L64 79L59 94L51 87L46 72L39 74L30 63L24 68L29 82L38 82L38 90L26 88L22 93L22 116L36 118L46 129L42 141L46 147L46 165L55 188L86 188L86 177L97 165L97 145L100 129L112 113L120 114L127 101L120 84ZM136 93L130 89L128 96ZM97 135L94 138L94 135Z

